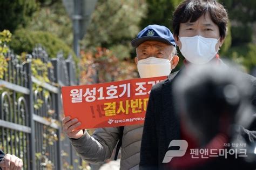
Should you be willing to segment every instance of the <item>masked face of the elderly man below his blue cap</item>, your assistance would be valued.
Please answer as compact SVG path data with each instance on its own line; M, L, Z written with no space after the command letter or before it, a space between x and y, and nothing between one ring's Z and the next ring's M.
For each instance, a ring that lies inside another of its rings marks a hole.
M173 45L147 40L136 49L135 62L141 78L167 76L179 62Z

